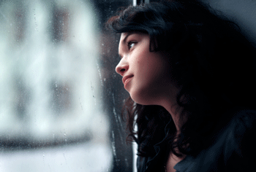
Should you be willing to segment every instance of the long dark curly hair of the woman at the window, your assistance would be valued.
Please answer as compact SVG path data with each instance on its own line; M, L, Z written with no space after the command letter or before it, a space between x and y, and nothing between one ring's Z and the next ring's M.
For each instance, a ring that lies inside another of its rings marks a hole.
M187 120L176 136L170 114L162 106L140 105L129 97L123 115L130 132L128 138L138 143L138 155L154 155L154 145L165 138L175 155L181 156L181 152L196 156L221 130L219 121L230 119L223 115L228 109L255 109L255 48L235 23L206 4L140 4L122 9L106 24L116 33L147 33L153 45L149 47L151 52L163 51L177 57L168 63L178 85L182 85L176 100L183 107L181 119ZM182 101L182 96L186 101Z

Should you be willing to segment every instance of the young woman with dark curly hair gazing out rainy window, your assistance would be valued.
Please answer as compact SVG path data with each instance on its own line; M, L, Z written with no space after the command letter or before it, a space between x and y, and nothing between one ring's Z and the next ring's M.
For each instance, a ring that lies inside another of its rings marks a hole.
M121 33L138 172L255 169L255 49L236 24L197 1L128 7L107 24Z

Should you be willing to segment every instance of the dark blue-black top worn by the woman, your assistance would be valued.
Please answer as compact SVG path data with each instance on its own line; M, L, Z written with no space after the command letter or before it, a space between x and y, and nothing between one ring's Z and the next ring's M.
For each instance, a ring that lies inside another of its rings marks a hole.
M177 172L256 171L256 111L239 108L227 113L232 118L214 135L211 146L196 157L187 155L174 166ZM164 140L154 146L154 157L138 157L138 172L165 172Z

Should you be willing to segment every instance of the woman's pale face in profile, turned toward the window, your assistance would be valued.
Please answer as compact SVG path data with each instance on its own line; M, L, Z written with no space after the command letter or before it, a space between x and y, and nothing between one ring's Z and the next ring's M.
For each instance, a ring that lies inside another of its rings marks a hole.
M150 36L139 32L121 34L116 72L132 100L143 105L162 105L176 98L178 87L170 76L171 67L163 52L150 52Z

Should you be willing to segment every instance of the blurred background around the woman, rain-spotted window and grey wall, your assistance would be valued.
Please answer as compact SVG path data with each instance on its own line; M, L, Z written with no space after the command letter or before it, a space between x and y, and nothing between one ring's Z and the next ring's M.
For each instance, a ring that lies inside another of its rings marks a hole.
M104 23L142 2L0 0L0 171L136 171ZM256 1L206 2L256 45Z

